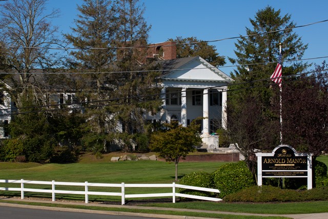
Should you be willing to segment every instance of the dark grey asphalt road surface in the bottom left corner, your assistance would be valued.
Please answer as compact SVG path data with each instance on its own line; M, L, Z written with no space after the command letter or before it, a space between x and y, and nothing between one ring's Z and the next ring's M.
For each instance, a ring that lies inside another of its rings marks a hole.
M43 209L0 206L0 218L6 219L148 219L150 217L108 215L83 212L53 211Z

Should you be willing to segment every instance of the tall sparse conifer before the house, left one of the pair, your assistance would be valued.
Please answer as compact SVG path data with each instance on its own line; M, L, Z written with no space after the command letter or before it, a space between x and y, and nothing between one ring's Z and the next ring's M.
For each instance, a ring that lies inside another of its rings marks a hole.
M117 32L117 23L113 2L111 0L84 0L84 4L77 6L78 18L75 19L73 34L66 34L69 43L77 51L71 51L74 68L78 71L90 72L76 78L74 86L79 101L87 99L85 117L88 121L83 129L90 131L87 136L102 136L100 145L106 142L109 132L109 113L102 105L104 99L109 98L111 89L108 84L113 75L108 72L115 61L113 49ZM78 101L78 102L79 102ZM103 147L104 148L104 147Z

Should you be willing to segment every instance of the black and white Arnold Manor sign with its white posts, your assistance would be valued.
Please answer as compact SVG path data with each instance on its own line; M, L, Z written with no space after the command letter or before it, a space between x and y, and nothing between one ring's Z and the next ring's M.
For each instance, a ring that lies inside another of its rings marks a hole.
M272 153L256 153L257 185L262 177L306 177L312 189L312 154L297 153L289 145L279 145Z

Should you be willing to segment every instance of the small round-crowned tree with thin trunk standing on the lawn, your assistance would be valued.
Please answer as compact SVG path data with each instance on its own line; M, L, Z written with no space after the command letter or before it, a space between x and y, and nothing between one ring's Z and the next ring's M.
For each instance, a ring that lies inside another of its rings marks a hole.
M180 158L186 158L189 152L195 150L194 146L201 143L198 126L193 122L188 127L177 123L166 124L165 131L155 132L151 136L150 149L159 152L159 156L175 164L175 181L178 180L178 163Z

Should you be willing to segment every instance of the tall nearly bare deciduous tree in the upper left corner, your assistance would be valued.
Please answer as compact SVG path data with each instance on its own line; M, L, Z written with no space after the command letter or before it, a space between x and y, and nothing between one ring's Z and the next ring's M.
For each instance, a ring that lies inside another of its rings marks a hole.
M42 86L35 79L35 69L47 72L58 64L55 54L50 53L47 48L59 43L55 35L57 28L50 23L50 19L57 17L59 11L53 9L46 13L46 2L47 0L12 0L0 8L0 41L6 45L6 62L19 73L18 78L12 79L16 94L25 95L31 89L34 102L45 96L38 95ZM19 98L17 104L20 104Z

